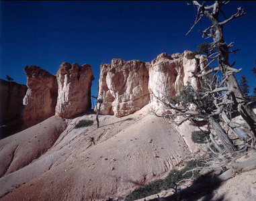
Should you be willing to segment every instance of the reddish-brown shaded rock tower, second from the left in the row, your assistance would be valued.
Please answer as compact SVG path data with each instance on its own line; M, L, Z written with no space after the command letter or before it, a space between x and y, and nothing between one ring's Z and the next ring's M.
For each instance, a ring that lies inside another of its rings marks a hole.
M56 76L38 66L26 66L28 90L24 97L24 125L31 127L55 115L58 96Z

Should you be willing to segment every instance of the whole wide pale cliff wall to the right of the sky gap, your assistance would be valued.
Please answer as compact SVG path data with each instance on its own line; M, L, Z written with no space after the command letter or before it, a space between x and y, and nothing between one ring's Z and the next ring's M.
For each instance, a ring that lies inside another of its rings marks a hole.
M103 98L102 115L123 117L151 103L159 110L163 104L158 98L172 98L179 94L183 84L200 86L194 73L206 66L205 56L185 50L183 54L160 54L151 63L139 60L112 60L101 64L99 97Z

